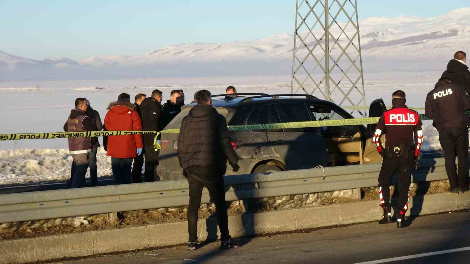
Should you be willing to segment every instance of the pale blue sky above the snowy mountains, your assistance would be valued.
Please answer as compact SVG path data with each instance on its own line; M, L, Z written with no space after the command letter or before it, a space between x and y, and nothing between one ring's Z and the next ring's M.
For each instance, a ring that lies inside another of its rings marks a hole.
M144 54L183 42L259 39L294 28L295 0L0 0L0 50L38 59ZM358 0L359 18L440 16L469 0Z

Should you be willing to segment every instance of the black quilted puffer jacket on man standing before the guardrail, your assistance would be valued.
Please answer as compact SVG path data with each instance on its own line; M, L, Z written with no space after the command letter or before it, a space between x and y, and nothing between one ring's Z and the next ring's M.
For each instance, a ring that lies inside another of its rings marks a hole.
M227 120L210 105L196 105L181 122L178 159L183 169L204 169L225 174L228 163L238 163Z

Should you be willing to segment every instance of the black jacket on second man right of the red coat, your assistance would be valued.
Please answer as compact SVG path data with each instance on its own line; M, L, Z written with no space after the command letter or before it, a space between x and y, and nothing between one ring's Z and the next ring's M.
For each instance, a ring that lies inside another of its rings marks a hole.
M155 98L147 97L140 105L142 130L160 131L162 105ZM145 149L153 149L153 140L157 133L143 134Z

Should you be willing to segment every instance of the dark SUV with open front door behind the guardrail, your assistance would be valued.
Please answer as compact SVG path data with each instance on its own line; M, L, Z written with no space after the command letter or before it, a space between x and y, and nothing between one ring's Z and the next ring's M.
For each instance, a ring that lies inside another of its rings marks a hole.
M253 93L214 95L212 106L225 116L228 125L354 118L336 104L308 94L244 97L246 95ZM223 98L215 99L219 96ZM384 104L382 100L376 101L373 103L378 108L375 112L380 116ZM165 129L180 128L181 120L195 105L185 105ZM227 175L306 169L318 165L380 163L382 157L371 142L372 130L373 127L368 129L364 125L342 125L232 131L230 136L240 170L227 170ZM178 133L163 133L161 141L164 148L160 150L158 175L162 180L184 179L177 156Z

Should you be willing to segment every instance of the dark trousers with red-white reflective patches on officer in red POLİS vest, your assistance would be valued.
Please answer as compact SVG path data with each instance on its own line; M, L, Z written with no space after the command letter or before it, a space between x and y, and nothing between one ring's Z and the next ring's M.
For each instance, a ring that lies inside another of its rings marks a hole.
M379 199L380 206L387 212L392 212L390 205L390 185L393 174L398 170L398 199L399 213L397 218L403 219L408 210L409 187L411 183L411 171L413 170L414 150L408 151L408 158L405 155L385 157L379 173ZM394 155L394 154L392 154Z

